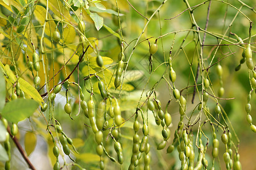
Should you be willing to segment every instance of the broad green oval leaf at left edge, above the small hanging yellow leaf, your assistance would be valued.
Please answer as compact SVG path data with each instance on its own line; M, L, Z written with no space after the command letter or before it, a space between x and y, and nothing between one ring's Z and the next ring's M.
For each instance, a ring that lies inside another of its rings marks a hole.
M30 117L38 108L39 104L32 99L16 99L5 105L2 117L9 122L18 123Z

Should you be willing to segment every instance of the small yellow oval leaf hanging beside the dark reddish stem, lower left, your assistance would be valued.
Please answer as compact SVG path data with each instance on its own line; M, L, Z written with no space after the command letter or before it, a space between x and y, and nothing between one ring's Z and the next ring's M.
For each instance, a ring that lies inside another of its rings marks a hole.
M31 131L28 131L25 134L24 145L25 145L25 151L29 156L36 147L36 135Z

